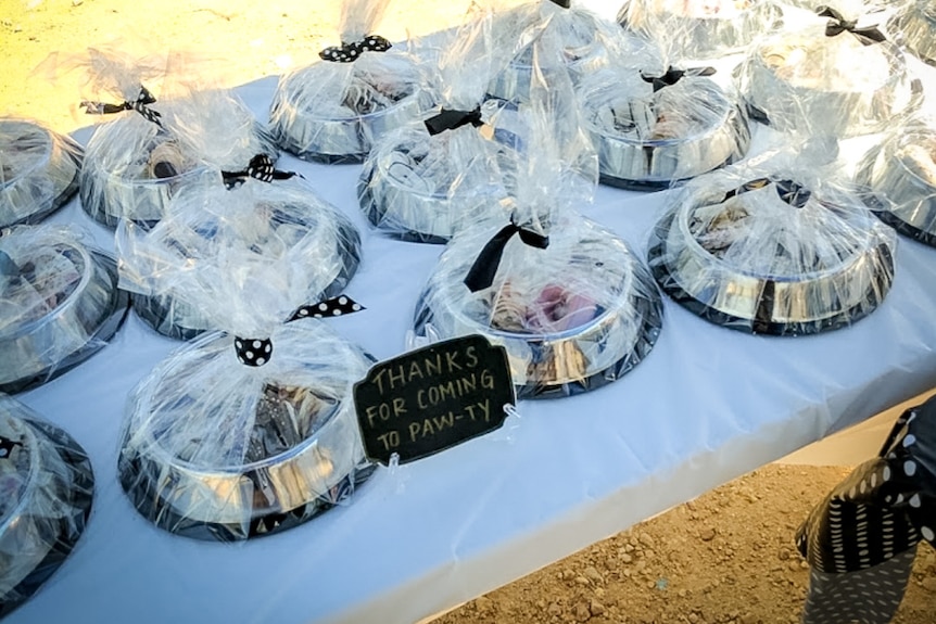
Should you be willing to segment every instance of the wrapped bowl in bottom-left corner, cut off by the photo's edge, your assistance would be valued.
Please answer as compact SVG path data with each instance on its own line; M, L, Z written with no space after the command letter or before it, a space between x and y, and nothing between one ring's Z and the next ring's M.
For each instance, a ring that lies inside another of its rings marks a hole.
M93 486L91 461L71 436L0 394L0 617L72 552Z

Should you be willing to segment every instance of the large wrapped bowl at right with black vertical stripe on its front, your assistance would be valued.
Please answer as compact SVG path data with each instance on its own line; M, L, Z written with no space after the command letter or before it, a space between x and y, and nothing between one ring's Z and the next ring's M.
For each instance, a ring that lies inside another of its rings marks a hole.
M649 264L706 320L750 333L812 334L876 309L896 234L830 166L781 155L700 176L672 195Z

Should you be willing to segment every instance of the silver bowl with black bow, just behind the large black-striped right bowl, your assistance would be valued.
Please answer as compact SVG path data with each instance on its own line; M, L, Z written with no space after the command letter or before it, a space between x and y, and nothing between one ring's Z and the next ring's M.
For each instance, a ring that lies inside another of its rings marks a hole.
M716 82L684 77L653 93L637 81L636 90L602 79L583 85L584 123L597 148L602 182L667 188L747 152L747 118Z

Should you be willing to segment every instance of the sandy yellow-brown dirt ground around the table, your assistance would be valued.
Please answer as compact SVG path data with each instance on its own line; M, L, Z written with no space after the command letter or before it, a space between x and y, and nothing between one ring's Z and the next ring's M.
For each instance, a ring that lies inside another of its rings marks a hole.
M517 3L515 0L514 3ZM508 2L509 3L509 2ZM426 34L458 22L468 0L394 0L380 34ZM79 117L75 76L34 68L116 37L222 56L213 78L236 86L306 64L334 43L338 0L0 0L0 115L61 131ZM794 533L849 467L771 464L530 576L470 601L438 624L794 624L808 571ZM922 547L896 622L936 621L936 553Z

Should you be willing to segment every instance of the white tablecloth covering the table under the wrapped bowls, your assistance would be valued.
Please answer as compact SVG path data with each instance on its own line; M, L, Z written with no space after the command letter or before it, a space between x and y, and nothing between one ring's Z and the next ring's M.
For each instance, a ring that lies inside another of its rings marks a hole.
M274 86L241 89L262 119ZM357 165L283 157L279 168L305 175L363 233L364 264L347 294L369 309L330 322L379 358L405 351L441 247L369 229L356 207ZM645 254L666 196L600 188L583 212ZM51 220L80 222L112 247L77 202ZM902 239L883 306L829 334L745 335L667 300L656 347L622 380L522 403L521 417L496 433L380 468L347 507L236 545L157 530L121 491L125 397L178 345L131 314L101 353L18 397L87 448L98 481L72 557L4 624L416 622L933 387L934 284L936 250Z

